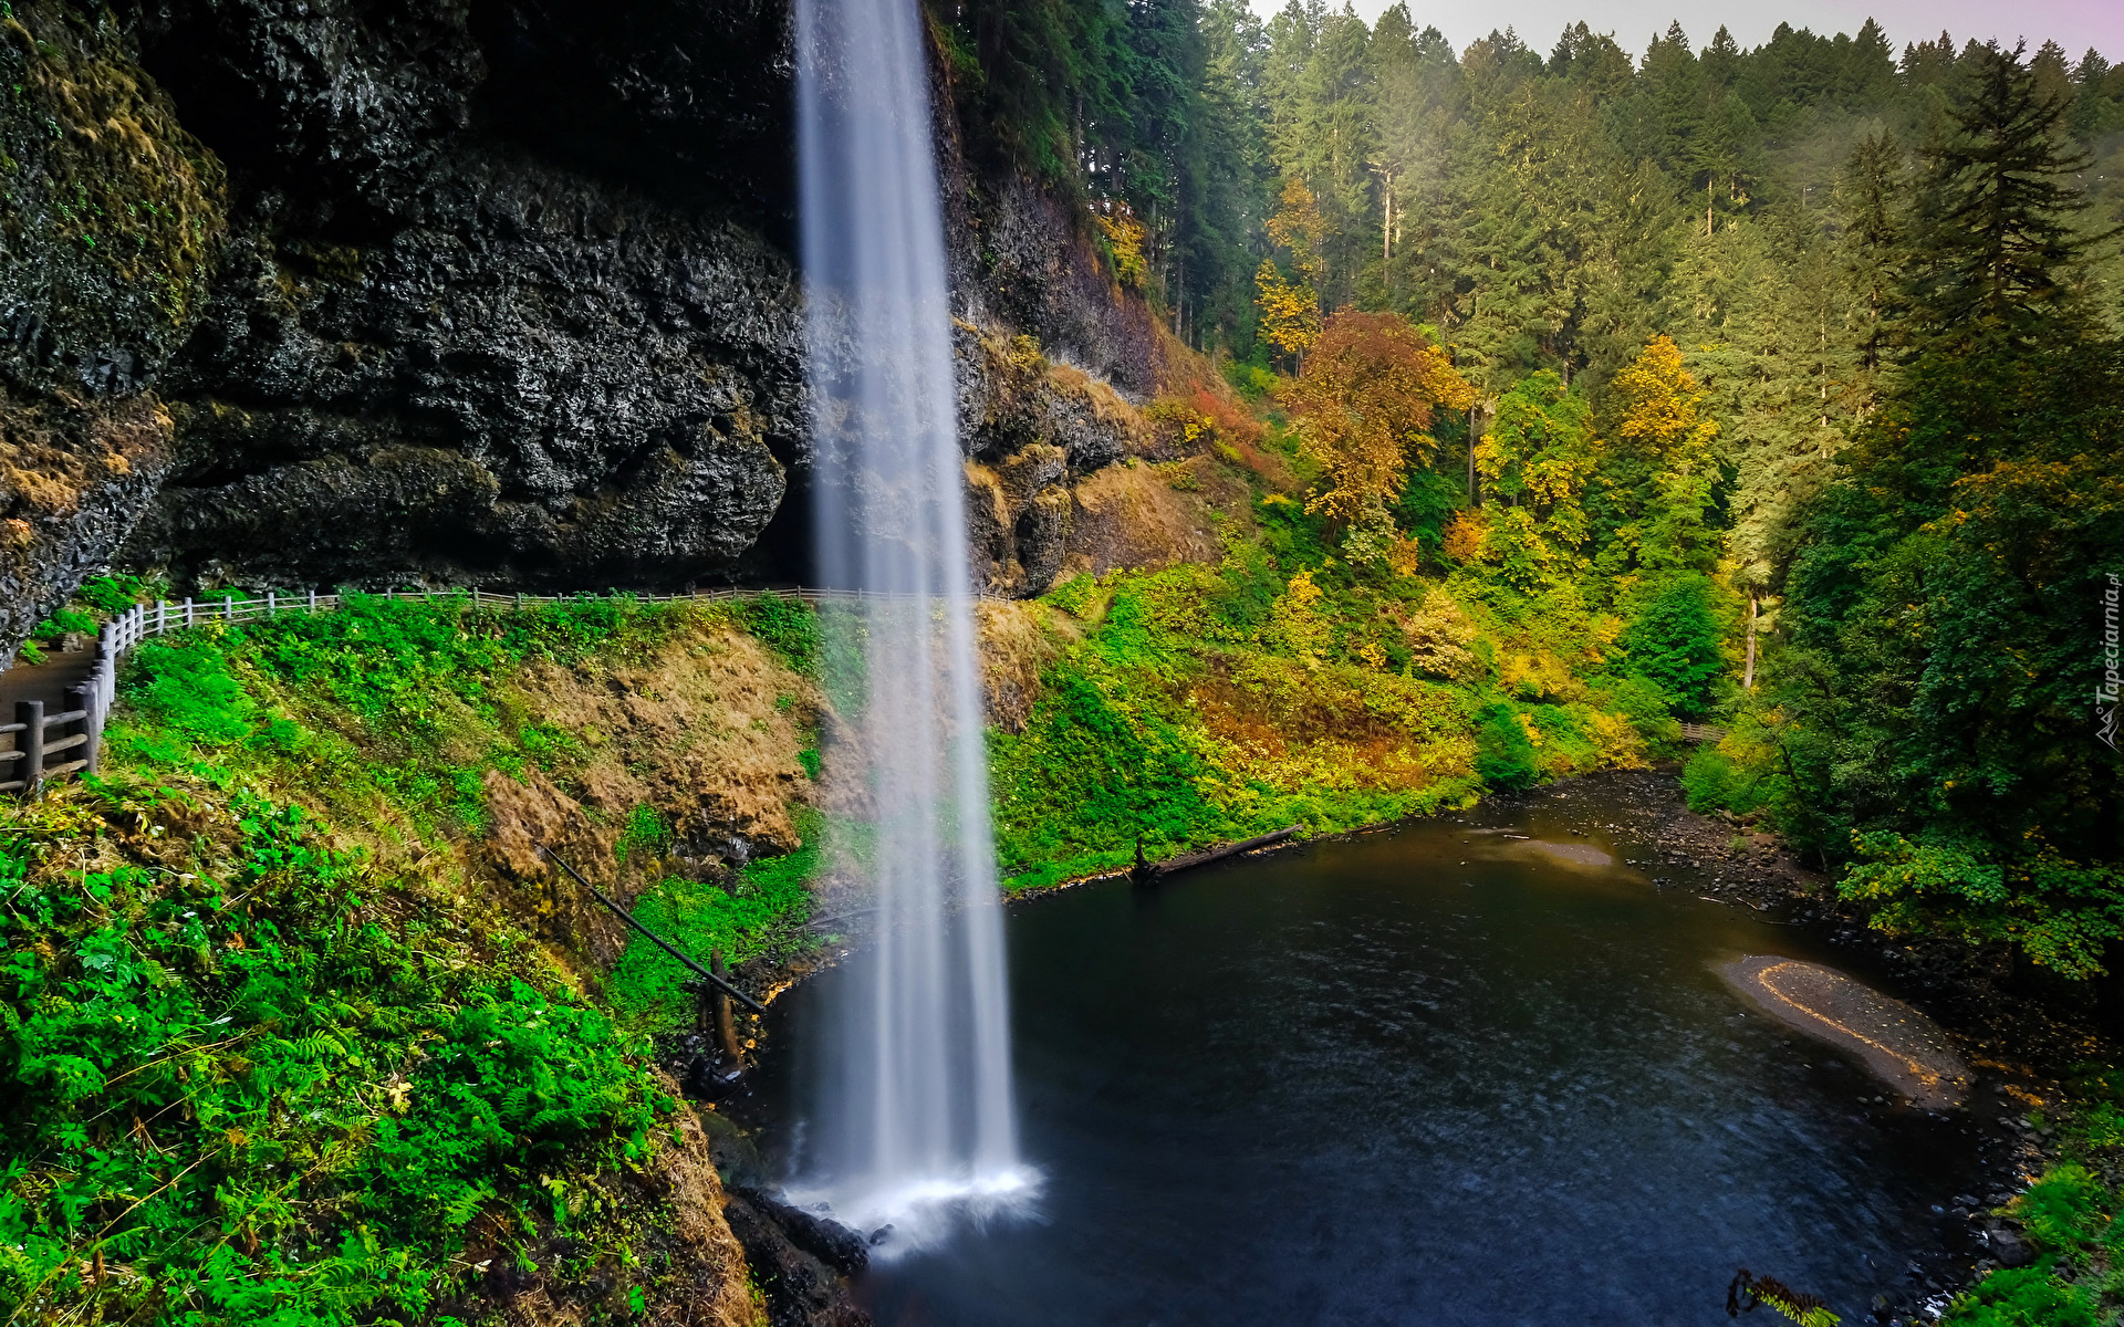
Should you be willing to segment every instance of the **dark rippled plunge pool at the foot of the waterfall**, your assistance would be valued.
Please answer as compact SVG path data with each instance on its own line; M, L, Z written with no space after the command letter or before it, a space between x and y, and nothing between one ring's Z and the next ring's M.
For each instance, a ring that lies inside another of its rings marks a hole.
M1627 866L1419 824L1081 885L1007 938L1047 1189L873 1268L881 1327L1710 1327L1742 1265L1856 1325L1977 1191L1969 1117L1861 1104L1712 966L1878 975ZM769 1108L843 981L777 1000Z

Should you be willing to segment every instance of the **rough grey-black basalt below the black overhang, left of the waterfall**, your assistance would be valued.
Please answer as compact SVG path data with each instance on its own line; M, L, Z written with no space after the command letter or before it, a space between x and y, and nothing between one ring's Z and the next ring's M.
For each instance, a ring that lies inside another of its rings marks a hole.
M280 584L669 586L758 539L805 446L775 251L518 151L438 161L374 244L325 244L282 208L244 217L172 367L178 467L130 558Z

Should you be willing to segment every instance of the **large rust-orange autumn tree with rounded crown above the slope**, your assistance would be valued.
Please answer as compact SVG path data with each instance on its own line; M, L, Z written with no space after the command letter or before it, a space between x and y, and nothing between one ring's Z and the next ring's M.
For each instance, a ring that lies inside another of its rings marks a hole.
M1474 389L1408 318L1344 310L1328 318L1283 401L1321 469L1306 512L1325 512L1370 548L1391 529L1387 499L1410 463L1427 465L1438 450L1432 410L1468 410Z

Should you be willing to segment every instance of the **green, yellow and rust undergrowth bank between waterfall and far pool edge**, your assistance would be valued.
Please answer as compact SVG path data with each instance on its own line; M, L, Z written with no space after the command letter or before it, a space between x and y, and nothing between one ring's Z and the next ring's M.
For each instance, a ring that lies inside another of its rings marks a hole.
M1646 667L1676 648L1657 614L1351 563L1279 495L1253 516L1219 565L1045 597L1081 631L1024 730L990 737L1009 887L1119 868L1138 839L1155 860L1287 824L1336 832L1676 752L1676 696ZM1716 654L1699 618L1680 631Z

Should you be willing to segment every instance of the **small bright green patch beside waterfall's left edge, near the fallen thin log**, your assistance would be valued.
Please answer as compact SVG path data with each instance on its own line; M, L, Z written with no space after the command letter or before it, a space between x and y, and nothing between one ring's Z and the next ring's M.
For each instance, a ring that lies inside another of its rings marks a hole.
M720 949L724 962L790 958L807 945L809 883L822 854L822 817L796 820L803 847L777 858L746 862L729 885L667 877L637 902L635 917L707 966ZM667 1030L692 1015L684 985L692 972L658 945L633 936L605 983L605 1002L629 1028Z

